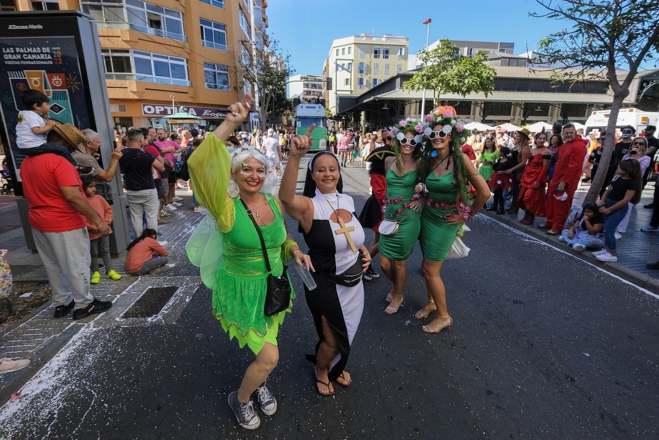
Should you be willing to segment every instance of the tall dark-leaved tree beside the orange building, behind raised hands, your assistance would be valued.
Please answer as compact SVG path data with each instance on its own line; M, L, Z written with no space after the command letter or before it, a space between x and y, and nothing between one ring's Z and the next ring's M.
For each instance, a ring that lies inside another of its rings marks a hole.
M253 59L237 59L236 70L242 75L243 82L254 84L256 88L260 127L264 130L267 115L273 112L273 104L273 117L293 107L293 102L286 98L286 81L295 70L291 67L291 55L283 53L277 40L271 40L267 47L255 47L252 54Z

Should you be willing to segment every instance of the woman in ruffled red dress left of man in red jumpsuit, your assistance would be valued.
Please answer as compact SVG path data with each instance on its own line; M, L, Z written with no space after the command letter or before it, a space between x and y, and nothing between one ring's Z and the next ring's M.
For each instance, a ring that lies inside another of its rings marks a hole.
M547 135L544 132L536 133L535 146L529 155L529 164L524 169L520 183L519 199L517 206L525 211L521 224L533 224L535 216L544 217L545 202L547 194L545 187L549 174L549 164L552 161L552 153L545 146Z

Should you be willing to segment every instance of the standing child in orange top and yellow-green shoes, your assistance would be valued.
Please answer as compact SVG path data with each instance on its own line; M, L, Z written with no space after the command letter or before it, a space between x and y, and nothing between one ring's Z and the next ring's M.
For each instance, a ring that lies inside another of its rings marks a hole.
M107 223L109 226L112 222L112 208L107 204L103 197L96 195L96 181L94 181L94 179L84 179L82 181L82 189L87 196L87 201L90 206L92 206L92 208L94 208L98 215L103 219L103 222ZM93 224L90 224L89 220L87 220L87 230L89 232L90 251L92 252L92 279L90 282L92 284L98 284L101 282L101 272L98 270L99 254L105 265L105 278L120 280L121 275L111 268L112 261L110 259L110 240L108 236L101 237L98 228ZM110 230L109 233L112 234L112 230Z

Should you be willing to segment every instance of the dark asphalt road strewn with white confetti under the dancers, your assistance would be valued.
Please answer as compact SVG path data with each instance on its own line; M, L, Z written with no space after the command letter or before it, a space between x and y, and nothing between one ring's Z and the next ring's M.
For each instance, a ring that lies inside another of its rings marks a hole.
M368 175L343 177L359 209ZM256 431L238 427L227 394L252 355L229 341L201 286L174 323L76 335L0 409L0 438L659 437L659 299L483 216L470 226L469 257L443 270L451 329L426 334L413 316L426 298L417 245L399 313L384 313L384 275L366 284L354 383L332 397L316 393L304 359L316 332L296 278L268 381L279 409ZM195 275L189 263L169 274Z

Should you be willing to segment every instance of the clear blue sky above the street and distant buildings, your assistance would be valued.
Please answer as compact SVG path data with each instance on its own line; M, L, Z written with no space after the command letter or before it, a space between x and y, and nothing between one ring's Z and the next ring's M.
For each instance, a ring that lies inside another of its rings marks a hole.
M542 11L535 0L272 0L266 11L268 34L291 54L293 69L303 75L322 75L332 40L350 35L406 36L410 53L416 53L426 44L425 18L432 18L431 43L440 38L512 42L515 54L524 53L527 46L534 49L538 41L567 24L530 17L529 11Z

